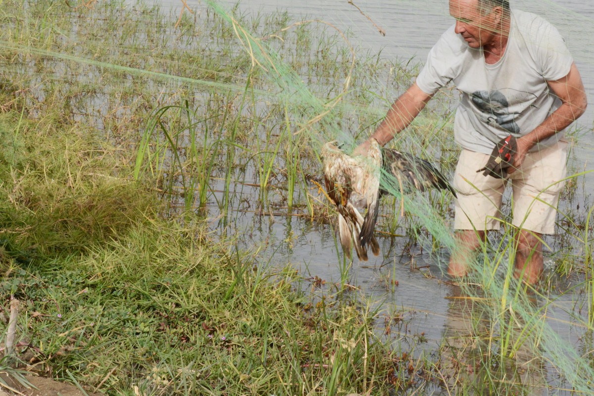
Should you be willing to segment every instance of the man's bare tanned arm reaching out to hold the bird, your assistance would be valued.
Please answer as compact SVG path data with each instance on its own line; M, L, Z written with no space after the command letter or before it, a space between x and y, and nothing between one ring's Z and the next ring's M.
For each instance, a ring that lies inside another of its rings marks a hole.
M380 145L386 145L387 142L392 140L397 133L405 129L419 115L425 104L432 97L432 94L422 91L416 83L410 85L405 93L400 95L396 102L392 104L386 118L375 129L375 132L370 138L377 140ZM355 148L353 154L365 154L368 147L369 140L366 140Z

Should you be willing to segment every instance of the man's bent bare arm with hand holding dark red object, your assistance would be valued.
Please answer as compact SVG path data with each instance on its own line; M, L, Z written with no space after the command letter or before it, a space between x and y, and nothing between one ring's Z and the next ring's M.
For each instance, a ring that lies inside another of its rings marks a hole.
M547 81L547 83L551 91L561 99L563 104L546 118L541 125L518 138L514 166L510 168L509 173L513 173L516 170L514 168L522 164L526 158L526 153L536 143L562 131L586 111L586 90L576 64L571 65L569 73L565 77L557 81Z

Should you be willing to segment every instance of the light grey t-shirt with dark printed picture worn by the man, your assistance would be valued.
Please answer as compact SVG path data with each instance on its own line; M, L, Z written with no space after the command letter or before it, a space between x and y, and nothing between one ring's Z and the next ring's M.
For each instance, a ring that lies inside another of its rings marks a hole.
M561 105L546 81L565 77L572 63L557 28L538 15L513 10L507 47L496 64L486 64L483 49L469 47L452 26L429 52L416 84L432 94L452 81L462 93L454 120L456 142L490 154L495 142L527 134ZM563 134L530 151L554 144Z

